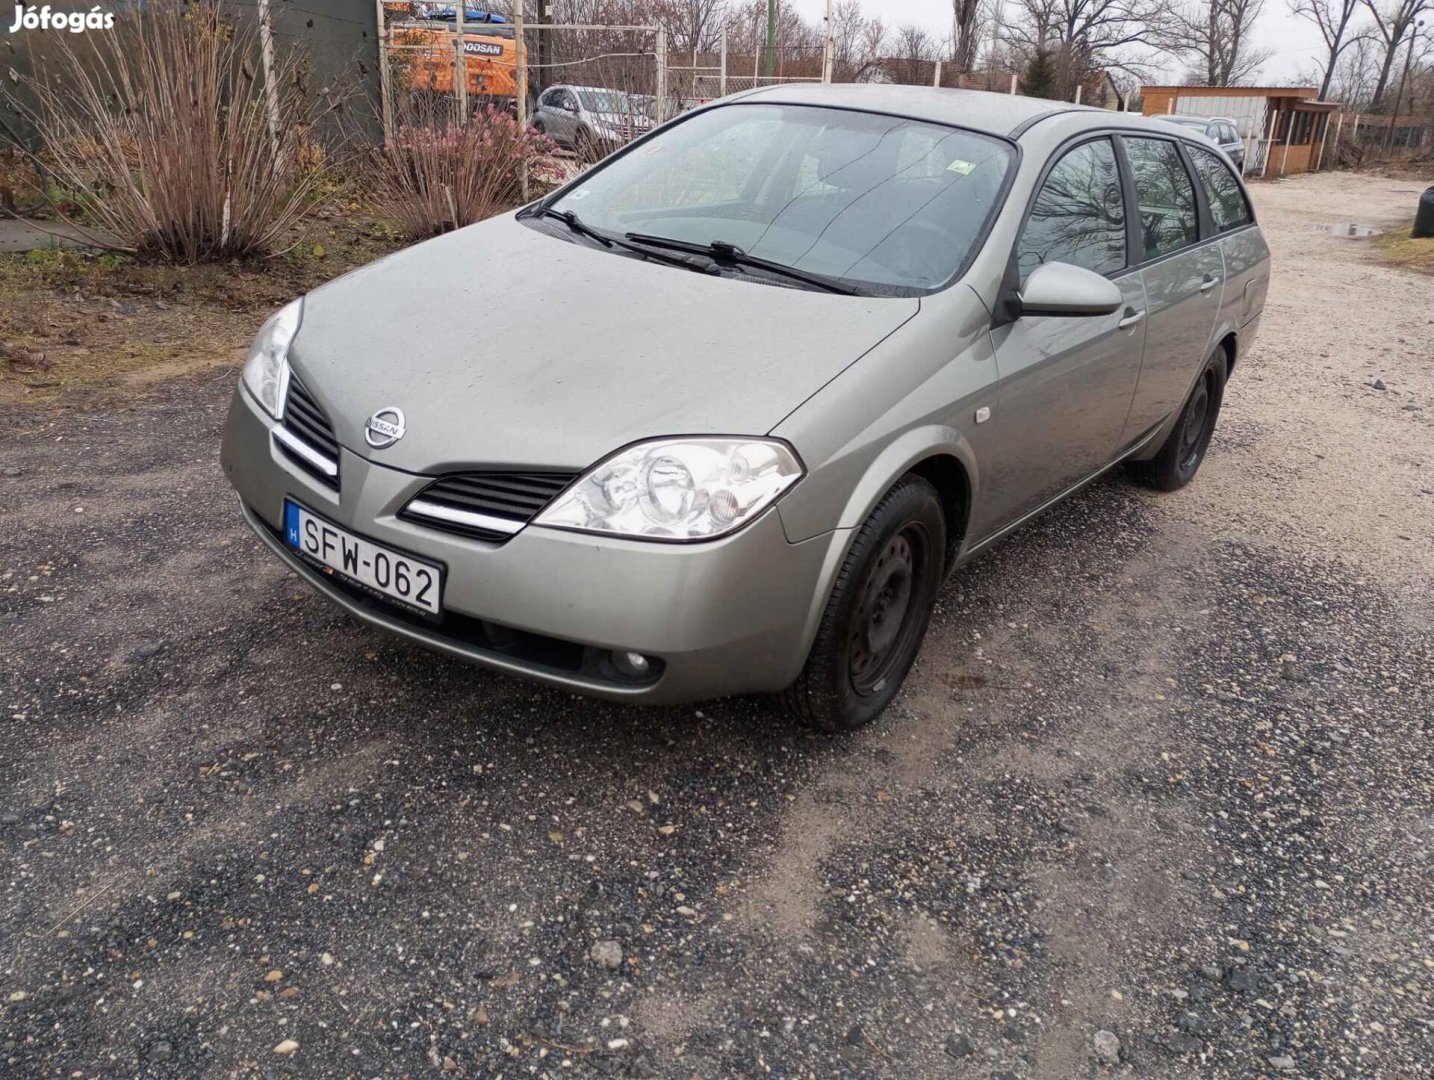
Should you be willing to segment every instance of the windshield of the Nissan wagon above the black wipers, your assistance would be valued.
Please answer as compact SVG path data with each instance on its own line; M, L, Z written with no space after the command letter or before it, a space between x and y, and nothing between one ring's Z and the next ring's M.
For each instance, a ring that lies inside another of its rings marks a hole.
M594 169L552 207L614 235L720 241L913 294L965 265L1012 159L998 139L899 116L728 105Z

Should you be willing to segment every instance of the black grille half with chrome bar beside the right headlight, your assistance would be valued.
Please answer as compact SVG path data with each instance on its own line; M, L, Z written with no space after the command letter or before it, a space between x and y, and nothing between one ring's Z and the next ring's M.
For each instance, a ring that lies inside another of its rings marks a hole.
M430 483L400 518L462 536L512 536L576 479L572 472L463 472Z

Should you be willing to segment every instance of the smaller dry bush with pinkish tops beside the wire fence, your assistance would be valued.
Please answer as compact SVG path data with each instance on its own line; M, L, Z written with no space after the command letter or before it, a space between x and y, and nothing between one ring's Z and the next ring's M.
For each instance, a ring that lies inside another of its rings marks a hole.
M509 112L483 108L459 122L452 100L423 98L399 112L391 143L374 152L373 186L380 212L413 240L516 207L525 171L532 185L556 179L554 143Z

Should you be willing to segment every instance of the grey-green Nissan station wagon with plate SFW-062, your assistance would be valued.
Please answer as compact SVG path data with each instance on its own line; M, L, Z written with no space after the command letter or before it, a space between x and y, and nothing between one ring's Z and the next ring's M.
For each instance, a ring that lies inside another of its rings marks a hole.
M853 729L955 568L1114 465L1195 476L1268 284L1196 132L766 87L280 310L222 460L274 554L377 627Z

